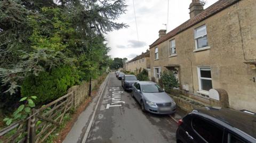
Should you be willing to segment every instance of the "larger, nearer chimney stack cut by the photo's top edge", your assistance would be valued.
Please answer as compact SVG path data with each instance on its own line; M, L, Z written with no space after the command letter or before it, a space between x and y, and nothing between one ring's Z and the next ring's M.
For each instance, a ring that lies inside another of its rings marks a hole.
M189 14L190 19L194 18L197 14L201 13L204 10L203 4L199 0L192 0L192 3L189 5Z

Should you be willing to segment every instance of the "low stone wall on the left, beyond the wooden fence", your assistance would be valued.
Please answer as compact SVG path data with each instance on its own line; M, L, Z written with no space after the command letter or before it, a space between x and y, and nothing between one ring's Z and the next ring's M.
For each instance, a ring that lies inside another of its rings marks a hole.
M98 79L92 81L92 89L97 87L104 79L106 74L101 75ZM74 106L79 106L86 98L89 97L89 82L82 82L81 85L73 86L68 89L69 92L74 92Z

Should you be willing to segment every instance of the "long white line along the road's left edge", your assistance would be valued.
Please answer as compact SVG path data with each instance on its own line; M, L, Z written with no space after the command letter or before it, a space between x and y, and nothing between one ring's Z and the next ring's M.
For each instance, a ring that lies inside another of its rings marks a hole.
M104 83L104 86L103 86L102 91L101 91L101 94L100 94L100 98L99 98L99 100L98 100L98 102L97 102L97 104L96 104L96 107L95 107L94 111L93 111L92 118L91 118L91 120L90 120L90 123L89 123L87 129L86 129L86 132L85 132L85 134L84 134L82 143L85 143L85 142L86 142L86 139L87 139L87 137L88 137L88 135L89 135L89 132L90 132L90 130L91 130L91 128L92 128L92 123L93 123L93 120L94 120L94 116L95 116L95 113L96 113L97 108L98 108L98 106L99 106L100 99L101 99L101 97L102 97L102 95L103 95L103 91L104 91L104 89L105 89L105 87L106 87L106 85L107 85L107 82L108 82L108 80L109 80L109 76L110 76L110 74L108 74L108 77L107 77L108 79L107 79L107 80L105 81L105 83Z

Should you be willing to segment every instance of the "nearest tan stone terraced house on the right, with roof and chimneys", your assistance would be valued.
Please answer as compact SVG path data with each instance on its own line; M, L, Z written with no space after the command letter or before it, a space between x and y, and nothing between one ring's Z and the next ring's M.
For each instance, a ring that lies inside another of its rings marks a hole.
M151 77L177 75L180 90L209 102L210 89L227 92L229 107L256 112L256 1L219 0L189 6L190 19L150 45Z

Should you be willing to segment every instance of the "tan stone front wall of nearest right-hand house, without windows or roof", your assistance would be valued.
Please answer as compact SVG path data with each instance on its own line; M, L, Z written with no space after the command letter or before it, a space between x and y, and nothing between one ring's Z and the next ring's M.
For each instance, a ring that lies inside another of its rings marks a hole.
M256 59L256 3L242 0L212 15L193 27L157 45L159 60L154 60L154 48L150 48L151 76L154 67L167 70L167 65L179 65L180 87L204 96L199 91L199 66L210 66L212 87L225 89L229 105L236 110L256 112L256 70L245 64ZM194 30L206 25L210 49L195 51ZM177 56L169 57L169 41L175 39Z

